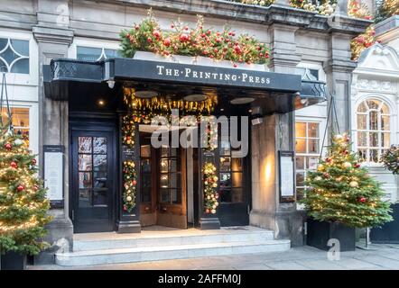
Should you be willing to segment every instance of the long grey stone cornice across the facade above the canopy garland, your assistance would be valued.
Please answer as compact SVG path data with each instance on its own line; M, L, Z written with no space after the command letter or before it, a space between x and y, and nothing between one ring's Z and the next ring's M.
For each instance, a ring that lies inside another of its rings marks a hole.
M235 19L251 23L283 23L316 31L341 31L356 35L363 32L371 21L348 16L326 17L286 5L273 4L268 7L240 4L225 0L105 0L142 8L153 7L181 14L206 14L218 18Z

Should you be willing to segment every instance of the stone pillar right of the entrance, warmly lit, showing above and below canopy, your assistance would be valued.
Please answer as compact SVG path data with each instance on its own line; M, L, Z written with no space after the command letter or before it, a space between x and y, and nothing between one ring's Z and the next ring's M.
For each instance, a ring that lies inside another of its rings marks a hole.
M271 34L271 69L294 72L301 61L296 52L292 26L273 24ZM303 245L303 212L296 204L280 202L278 151L294 150L294 112L264 117L252 126L252 207L250 224L273 229L276 238L290 238L292 246ZM293 175L292 175L293 178Z

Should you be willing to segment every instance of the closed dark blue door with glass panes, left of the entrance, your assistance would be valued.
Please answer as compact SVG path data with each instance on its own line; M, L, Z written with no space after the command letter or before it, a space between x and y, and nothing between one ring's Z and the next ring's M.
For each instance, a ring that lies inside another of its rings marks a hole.
M75 233L114 230L115 137L110 131L73 130L72 221Z

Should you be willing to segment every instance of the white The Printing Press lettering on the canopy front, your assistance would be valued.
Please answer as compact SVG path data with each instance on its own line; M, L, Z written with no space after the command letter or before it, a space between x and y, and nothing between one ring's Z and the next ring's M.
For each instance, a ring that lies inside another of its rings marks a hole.
M159 76L172 76L172 77L180 77L184 76L185 78L196 78L196 79L212 79L218 81L226 81L226 82L237 82L241 81L242 83L250 83L250 84L260 84L260 85L269 85L271 80L266 76L251 76L246 72L237 72L237 73L218 73L218 72L204 72L200 70L194 70L189 67L185 67L182 69L172 69L167 68L163 65L157 65L157 75Z

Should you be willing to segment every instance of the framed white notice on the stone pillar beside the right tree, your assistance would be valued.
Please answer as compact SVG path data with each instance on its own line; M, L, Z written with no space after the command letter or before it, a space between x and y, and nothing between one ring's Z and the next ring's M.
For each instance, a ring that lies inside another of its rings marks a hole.
M293 151L279 151L280 202L295 201Z

